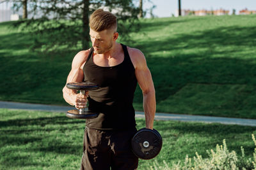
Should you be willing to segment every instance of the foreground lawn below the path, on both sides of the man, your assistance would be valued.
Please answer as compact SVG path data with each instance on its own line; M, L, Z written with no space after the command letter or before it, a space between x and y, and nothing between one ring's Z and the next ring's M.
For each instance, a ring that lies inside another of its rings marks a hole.
M0 109L0 169L79 169L83 152L84 121L65 117L65 113ZM137 128L145 120L137 119ZM238 125L155 121L163 137L163 148L153 160L140 160L138 169L149 169L163 160L172 165L195 152L207 157L206 150L221 145L252 157L252 133L256 127Z

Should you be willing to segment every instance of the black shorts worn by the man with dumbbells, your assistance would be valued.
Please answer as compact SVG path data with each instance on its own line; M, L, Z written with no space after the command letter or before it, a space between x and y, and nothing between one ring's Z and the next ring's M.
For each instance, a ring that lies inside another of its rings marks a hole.
M86 127L81 170L136 169L138 157L131 150L131 139L136 132L136 129L100 131Z

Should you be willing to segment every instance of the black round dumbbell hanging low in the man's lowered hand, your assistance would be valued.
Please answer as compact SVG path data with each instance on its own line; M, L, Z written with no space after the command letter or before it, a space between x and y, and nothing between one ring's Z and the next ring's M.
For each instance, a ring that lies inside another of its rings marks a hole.
M140 129L132 138L132 152L140 159L153 159L161 151L163 139L156 129Z

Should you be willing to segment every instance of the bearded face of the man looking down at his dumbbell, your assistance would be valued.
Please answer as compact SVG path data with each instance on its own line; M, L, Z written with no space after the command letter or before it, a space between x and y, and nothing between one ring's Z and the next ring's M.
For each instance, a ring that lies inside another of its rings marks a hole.
M108 52L114 43L114 32L111 30L93 31L90 29L90 37L95 53Z

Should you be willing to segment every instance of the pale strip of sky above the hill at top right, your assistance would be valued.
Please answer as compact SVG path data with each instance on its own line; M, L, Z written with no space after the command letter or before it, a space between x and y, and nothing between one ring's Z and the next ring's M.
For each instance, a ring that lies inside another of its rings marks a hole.
M143 0L143 10L152 7L152 3L156 5L153 14L157 17L171 17L175 15L178 9L178 0ZM256 0L180 0L181 8L184 10L223 10L235 9L238 14L239 10L247 8L248 10L256 10ZM149 17L147 15L146 17Z

